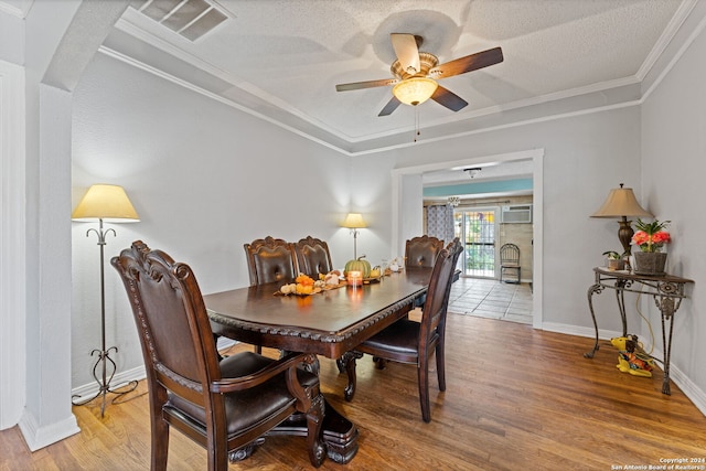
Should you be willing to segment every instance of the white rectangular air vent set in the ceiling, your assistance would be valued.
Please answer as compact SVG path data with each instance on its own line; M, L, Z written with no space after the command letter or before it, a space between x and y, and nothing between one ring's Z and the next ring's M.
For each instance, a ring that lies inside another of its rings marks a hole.
M192 42L228 18L206 0L150 0L139 11Z

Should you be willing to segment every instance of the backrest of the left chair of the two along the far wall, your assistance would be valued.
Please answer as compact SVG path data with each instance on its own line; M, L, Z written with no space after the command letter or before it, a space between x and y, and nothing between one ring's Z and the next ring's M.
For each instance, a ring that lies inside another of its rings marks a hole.
M244 244L250 286L272 281L292 280L295 271L295 249L291 243L267 236L250 244Z

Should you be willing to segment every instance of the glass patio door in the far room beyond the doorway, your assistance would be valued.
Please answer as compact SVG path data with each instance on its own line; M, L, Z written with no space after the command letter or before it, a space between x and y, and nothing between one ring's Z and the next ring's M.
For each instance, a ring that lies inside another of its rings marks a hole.
M498 207L457 208L453 212L453 235L459 237L464 248L461 254L464 276L498 278Z

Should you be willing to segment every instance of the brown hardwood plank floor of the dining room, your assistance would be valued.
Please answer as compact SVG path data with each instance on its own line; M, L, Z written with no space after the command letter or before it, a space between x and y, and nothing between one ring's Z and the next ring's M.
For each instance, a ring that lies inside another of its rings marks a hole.
M327 460L320 469L614 470L706 459L706 417L676 385L665 396L662 372L652 378L620 373L608 342L593 360L584 358L591 346L590 339L449 314L447 390L438 392L432 374L430 424L421 420L413 366L389 363L378 371L365 356L355 398L346 403L345 375L321 358L324 394L361 435L351 463ZM0 470L149 469L147 396L110 405L103 419L98 402L74 413L82 432L34 453L17 427L0 432ZM683 464L706 469L704 461ZM229 467L310 468L300 437L267 438L247 461ZM205 451L172 433L169 470L194 469L205 469Z

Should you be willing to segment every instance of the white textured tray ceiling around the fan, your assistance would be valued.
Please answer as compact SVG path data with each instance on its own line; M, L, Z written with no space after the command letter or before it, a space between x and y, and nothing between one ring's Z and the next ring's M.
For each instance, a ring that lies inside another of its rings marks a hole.
M419 139L437 140L546 115L548 103L560 103L566 113L634 100L640 97L640 81L678 25L671 20L682 4L680 0L211 3L227 19L195 41L129 8L104 51L349 154L413 144L415 111ZM393 32L422 36L420 50L441 63L495 46L502 47L504 62L440 81L469 101L458 113L429 100L416 108L402 105L391 116L378 117L392 87L338 93L335 85L392 77Z

